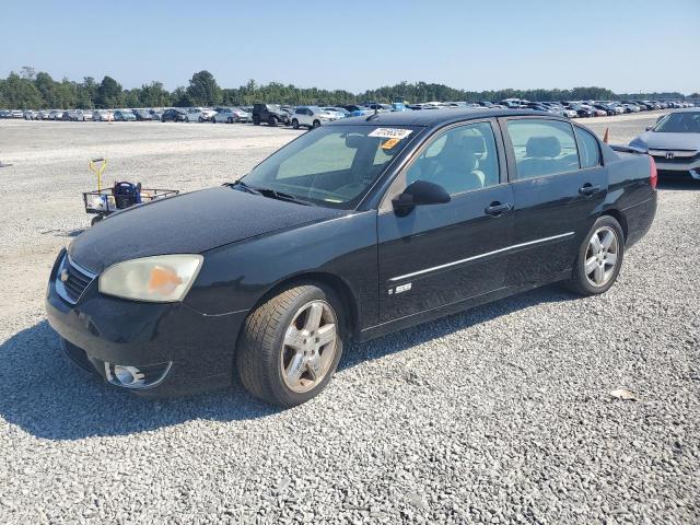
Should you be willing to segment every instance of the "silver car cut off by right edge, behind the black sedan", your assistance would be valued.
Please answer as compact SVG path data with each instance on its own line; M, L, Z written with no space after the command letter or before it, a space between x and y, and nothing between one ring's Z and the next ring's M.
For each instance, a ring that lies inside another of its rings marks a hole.
M661 175L690 175L700 180L700 108L663 115L630 145L649 150Z

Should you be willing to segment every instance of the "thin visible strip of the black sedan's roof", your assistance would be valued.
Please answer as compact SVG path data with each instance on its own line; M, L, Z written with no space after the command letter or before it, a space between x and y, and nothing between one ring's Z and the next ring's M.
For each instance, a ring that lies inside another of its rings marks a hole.
M343 126L348 124L366 124L368 126L423 126L434 127L442 126L451 122L458 122L460 120L470 120L477 118L491 118L491 117L520 117L520 116L546 116L549 118L557 118L551 113L536 112L530 109L499 109L499 108L442 108L442 109L421 109L416 112L394 112L394 113L377 113L376 115L370 115L364 117L343 118L342 120L336 120L327 124L326 126Z

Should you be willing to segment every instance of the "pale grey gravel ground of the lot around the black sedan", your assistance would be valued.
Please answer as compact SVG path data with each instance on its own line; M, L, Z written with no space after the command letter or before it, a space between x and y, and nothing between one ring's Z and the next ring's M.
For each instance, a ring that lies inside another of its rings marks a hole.
M591 127L627 143L654 119ZM291 410L240 386L143 400L63 361L43 294L89 222L90 156L190 190L295 135L0 121L0 523L699 523L697 184L662 185L604 296L546 288L355 345Z

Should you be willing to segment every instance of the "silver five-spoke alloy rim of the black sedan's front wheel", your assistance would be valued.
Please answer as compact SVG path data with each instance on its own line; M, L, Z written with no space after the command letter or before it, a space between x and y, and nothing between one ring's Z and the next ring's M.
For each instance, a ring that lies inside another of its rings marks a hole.
M315 300L296 311L284 332L280 366L284 384L304 393L319 384L338 349L338 320L330 304Z

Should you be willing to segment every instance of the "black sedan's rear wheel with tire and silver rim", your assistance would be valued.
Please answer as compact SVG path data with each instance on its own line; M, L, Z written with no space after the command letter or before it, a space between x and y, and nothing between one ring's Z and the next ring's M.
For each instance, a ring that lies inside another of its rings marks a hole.
M612 217L595 221L579 248L569 288L581 295L607 292L620 273L625 257L625 233Z

